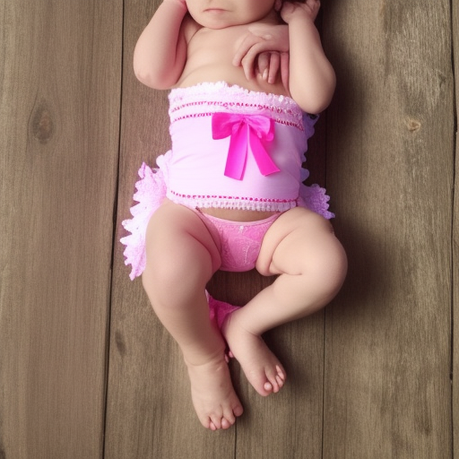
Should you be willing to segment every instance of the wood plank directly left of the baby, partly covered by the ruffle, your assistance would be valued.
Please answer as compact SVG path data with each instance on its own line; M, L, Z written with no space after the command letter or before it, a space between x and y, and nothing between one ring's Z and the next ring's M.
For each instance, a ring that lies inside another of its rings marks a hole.
M134 78L135 42L160 1L125 5L123 114L117 241L143 161L154 164L169 149L166 91L152 91ZM233 457L234 430L216 435L203 429L191 403L178 346L154 316L142 282L131 282L115 250L111 313L106 459ZM190 439L193 438L193 441Z

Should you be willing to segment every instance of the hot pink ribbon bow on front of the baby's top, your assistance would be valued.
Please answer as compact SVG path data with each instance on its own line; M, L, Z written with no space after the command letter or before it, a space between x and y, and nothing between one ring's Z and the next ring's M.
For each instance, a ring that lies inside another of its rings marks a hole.
M258 169L267 176L279 172L263 141L274 138L274 122L263 115L239 115L234 113L214 113L212 115L212 138L224 139L231 136L226 160L225 176L241 180L246 168L247 152L254 155Z

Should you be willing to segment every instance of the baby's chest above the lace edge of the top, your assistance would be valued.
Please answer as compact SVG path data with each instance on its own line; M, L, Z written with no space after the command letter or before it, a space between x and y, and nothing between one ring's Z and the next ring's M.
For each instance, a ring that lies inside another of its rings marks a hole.
M242 67L232 64L248 28L248 25L241 25L198 30L188 43L186 66L176 86L184 88L201 82L224 81L251 91L286 95L280 77L277 82L268 83L256 74L254 79L247 81Z

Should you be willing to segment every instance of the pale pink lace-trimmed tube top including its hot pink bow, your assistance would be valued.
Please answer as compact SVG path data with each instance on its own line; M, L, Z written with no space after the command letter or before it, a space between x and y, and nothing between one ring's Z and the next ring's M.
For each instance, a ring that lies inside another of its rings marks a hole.
M225 82L169 93L167 196L188 207L295 207L316 119L289 97Z

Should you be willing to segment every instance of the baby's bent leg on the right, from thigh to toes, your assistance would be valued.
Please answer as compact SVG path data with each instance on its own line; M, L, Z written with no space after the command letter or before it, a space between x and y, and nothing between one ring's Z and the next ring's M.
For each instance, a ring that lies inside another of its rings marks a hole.
M324 307L340 290L347 261L330 223L295 208L283 213L264 236L256 268L264 275L280 275L228 316L223 333L249 382L268 395L279 391L285 372L262 333Z

